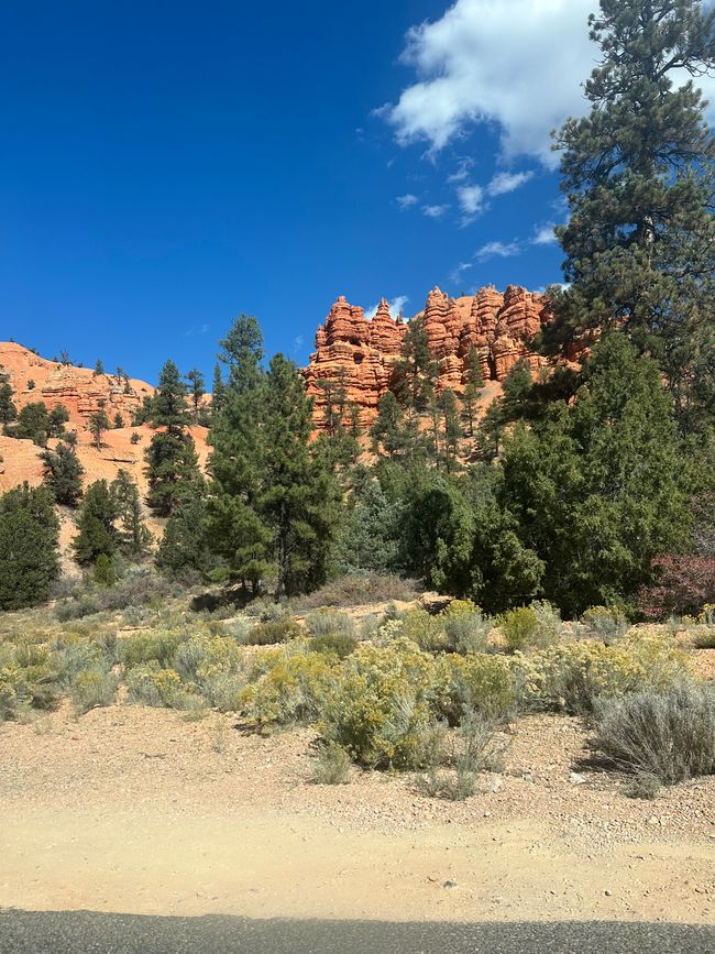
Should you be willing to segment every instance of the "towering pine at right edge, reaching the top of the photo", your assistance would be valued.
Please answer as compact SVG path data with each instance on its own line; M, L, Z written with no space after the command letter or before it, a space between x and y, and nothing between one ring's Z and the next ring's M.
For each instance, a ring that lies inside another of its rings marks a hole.
M601 0L590 22L602 52L585 87L592 110L557 140L570 286L544 339L568 348L625 330L660 362L681 424L700 427L715 414L715 149L692 79L715 68L715 11Z

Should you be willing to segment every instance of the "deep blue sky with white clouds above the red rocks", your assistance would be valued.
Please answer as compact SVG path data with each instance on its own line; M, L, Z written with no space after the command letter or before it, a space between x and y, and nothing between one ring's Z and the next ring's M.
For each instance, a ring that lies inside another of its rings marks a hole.
M559 281L592 6L2 4L0 338L153 381L242 310L305 363L339 294Z

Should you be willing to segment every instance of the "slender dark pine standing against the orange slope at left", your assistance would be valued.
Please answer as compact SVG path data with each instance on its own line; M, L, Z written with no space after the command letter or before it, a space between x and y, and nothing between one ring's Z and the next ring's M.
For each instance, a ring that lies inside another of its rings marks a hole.
M189 423L186 385L176 364L167 361L152 401L152 425L157 430L145 454L146 503L156 516L170 516L200 478L194 440L187 432Z

